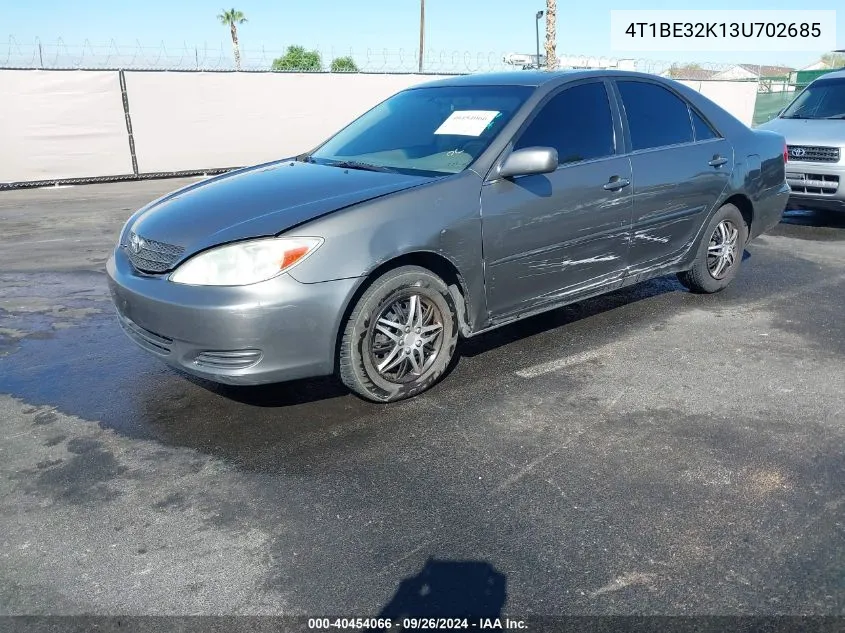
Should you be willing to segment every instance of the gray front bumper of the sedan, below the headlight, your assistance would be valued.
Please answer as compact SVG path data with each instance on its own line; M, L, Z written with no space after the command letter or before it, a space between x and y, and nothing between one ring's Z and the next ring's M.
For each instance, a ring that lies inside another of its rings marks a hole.
M144 275L118 247L106 265L124 332L169 365L214 382L257 385L334 371L340 319L357 279L187 286Z

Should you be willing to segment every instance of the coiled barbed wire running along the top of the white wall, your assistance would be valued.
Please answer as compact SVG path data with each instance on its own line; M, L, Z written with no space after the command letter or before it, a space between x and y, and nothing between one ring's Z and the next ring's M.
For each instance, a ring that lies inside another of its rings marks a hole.
M314 47L319 55L318 67L309 66L312 72L330 71L332 62L339 58L351 58L354 65L336 67L337 72L369 73L413 73L420 68L419 53L416 50L335 47ZM240 49L240 70L267 72L273 69L274 60L284 57L287 47ZM545 65L541 55L540 65ZM466 74L530 68L538 65L536 55L507 51L473 52L460 50L427 50L423 56L422 69L431 74ZM618 68L640 72L663 74L675 79L718 78L739 64L711 62L675 62L644 58L595 57L588 55L562 54L558 57L559 68ZM744 65L746 68L752 68ZM81 44L69 43L64 38L45 42L35 38L19 42L9 36L6 46L0 46L0 68L20 69L127 69L127 70L236 70L232 46L227 42L191 45L160 42L146 45L118 43L111 39L106 44L92 43L86 39ZM763 67L759 67L763 68ZM290 68L297 72L301 68ZM759 72L757 73L760 74ZM741 77L730 77L741 78Z

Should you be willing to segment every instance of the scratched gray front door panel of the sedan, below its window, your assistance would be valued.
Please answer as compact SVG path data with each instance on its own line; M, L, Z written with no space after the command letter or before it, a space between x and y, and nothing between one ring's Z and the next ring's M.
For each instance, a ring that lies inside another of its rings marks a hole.
M482 189L487 299L491 316L523 311L550 297L621 277L631 224L627 157L500 180Z

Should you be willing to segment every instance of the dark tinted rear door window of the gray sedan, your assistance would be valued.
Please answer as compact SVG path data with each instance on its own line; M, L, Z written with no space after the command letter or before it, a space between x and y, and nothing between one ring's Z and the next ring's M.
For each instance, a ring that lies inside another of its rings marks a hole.
M653 83L619 81L634 150L692 143L687 103Z

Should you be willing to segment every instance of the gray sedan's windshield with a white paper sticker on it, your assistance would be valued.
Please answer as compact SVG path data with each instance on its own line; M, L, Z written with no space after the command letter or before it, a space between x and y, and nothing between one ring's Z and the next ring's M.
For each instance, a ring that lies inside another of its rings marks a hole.
M303 158L354 169L455 174L487 148L533 90L529 86L405 90Z

